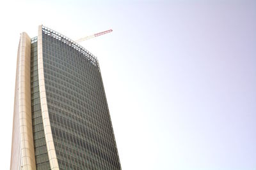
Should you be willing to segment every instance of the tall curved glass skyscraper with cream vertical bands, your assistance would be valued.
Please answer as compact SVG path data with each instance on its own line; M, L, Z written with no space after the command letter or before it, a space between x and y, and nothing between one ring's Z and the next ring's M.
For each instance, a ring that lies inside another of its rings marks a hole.
M10 169L121 169L97 58L42 25L20 36Z

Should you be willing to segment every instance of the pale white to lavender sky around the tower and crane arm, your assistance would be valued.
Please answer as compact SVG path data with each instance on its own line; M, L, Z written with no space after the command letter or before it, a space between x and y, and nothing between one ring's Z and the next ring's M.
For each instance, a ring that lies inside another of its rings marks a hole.
M1 1L1 169L10 168L20 32L100 63L122 169L256 169L256 1Z

